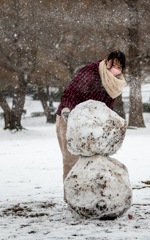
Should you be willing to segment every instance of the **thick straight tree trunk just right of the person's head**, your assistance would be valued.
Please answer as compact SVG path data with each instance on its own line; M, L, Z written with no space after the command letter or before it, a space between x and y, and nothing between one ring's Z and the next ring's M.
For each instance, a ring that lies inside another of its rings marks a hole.
M129 37L129 76L130 76L130 110L129 126L145 127L141 93L141 69L139 53L138 0L125 1L130 10Z

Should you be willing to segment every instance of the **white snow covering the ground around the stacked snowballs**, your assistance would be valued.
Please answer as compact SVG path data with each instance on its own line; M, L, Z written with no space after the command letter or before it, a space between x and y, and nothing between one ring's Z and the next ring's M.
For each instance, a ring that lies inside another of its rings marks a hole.
M29 99L28 99L29 100ZM25 129L3 130L0 119L0 240L149 240L150 239L150 114L146 128L127 129L114 158L126 165L133 187L133 203L114 221L76 218L63 201L62 159L55 124L38 101L26 102Z

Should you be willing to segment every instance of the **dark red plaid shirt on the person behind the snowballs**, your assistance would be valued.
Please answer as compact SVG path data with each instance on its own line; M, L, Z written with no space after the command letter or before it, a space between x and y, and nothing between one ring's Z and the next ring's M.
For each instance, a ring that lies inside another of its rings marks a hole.
M68 107L70 110L81 102L89 99L104 102L113 109L114 99L112 99L102 85L99 75L99 63L91 63L81 68L70 84L66 87L57 113L61 115L61 110Z

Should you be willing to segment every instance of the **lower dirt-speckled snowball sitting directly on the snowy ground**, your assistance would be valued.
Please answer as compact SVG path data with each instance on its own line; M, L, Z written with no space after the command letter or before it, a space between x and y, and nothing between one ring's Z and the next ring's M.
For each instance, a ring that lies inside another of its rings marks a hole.
M87 218L114 219L131 205L127 168L110 157L80 157L64 188L69 206Z

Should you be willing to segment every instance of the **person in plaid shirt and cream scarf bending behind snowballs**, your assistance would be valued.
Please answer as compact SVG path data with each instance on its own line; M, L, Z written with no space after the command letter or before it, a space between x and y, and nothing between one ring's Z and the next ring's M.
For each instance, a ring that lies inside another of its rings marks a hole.
M125 63L124 53L113 51L105 59L82 67L65 88L56 112L56 132L63 156L63 180L79 159L67 149L66 129L70 111L89 99L104 102L113 109L115 98L126 85L123 76Z

